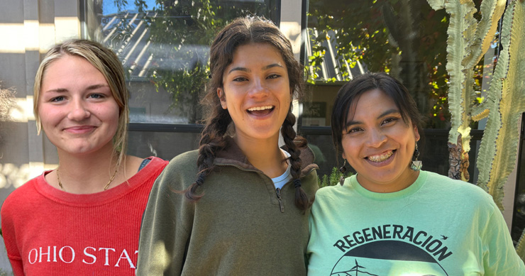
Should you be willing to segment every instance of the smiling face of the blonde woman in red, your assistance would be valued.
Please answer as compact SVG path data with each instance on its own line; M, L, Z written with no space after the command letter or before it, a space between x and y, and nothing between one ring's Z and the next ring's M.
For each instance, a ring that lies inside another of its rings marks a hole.
M82 57L64 55L43 74L38 115L59 153L113 150L119 108L104 75Z

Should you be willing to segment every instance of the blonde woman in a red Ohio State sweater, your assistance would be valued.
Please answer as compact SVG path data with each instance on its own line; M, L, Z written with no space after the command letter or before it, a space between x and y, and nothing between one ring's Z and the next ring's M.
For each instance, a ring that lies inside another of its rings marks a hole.
M38 67L37 129L58 167L14 190L1 229L14 275L134 275L140 221L167 161L126 155L128 89L108 48L55 45Z

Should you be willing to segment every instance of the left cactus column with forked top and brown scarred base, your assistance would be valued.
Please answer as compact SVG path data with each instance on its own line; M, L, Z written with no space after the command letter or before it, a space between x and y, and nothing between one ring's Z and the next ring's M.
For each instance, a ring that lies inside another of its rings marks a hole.
M470 111L475 102L473 67L487 52L505 0L483 0L478 23L473 1L428 0L432 9L443 9L451 15L447 40L447 71L450 75L448 106L451 112L451 131L448 147L451 168L448 176L468 181L468 151L470 150Z

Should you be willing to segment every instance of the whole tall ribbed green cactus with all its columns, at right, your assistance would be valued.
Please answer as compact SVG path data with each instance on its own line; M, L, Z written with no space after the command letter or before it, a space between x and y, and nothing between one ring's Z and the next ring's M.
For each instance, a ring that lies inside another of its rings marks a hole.
M525 1L509 2L502 23L502 51L497 60L487 99L473 105L472 72L490 45L497 21L504 11L504 0L483 0L482 19L473 18L475 7L466 0L428 0L433 9L445 8L451 14L448 28L447 70L451 75L448 92L452 129L449 141L449 176L465 180L468 167L470 121L487 118L477 158L480 175L477 185L489 192L503 210L503 185L514 169L519 140L518 120L525 112ZM465 166L466 165L466 166ZM525 232L516 251L525 260Z

